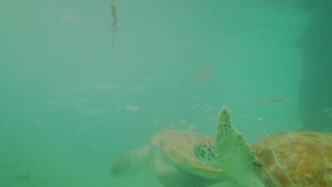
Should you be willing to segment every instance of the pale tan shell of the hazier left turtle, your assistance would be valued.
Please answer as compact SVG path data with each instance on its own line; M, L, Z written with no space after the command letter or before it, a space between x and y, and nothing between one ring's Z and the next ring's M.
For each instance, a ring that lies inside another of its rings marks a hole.
M181 130L161 130L157 132L151 143L167 155L173 164L206 179L226 178L220 168L201 162L194 155L194 145L214 145L214 138Z

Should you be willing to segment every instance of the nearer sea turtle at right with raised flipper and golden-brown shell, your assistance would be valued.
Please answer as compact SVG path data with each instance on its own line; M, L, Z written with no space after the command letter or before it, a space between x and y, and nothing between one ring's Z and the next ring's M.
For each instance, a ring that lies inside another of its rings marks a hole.
M238 186L332 186L332 134L280 132L249 145L223 107L216 128L216 145L194 146L195 156L219 166Z

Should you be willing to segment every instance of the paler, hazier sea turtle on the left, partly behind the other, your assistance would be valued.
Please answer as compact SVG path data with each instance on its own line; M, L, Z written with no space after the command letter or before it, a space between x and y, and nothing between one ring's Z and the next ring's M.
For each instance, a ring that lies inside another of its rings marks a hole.
M231 180L219 167L194 156L197 144L214 144L214 138L190 131L161 130L140 149L124 154L111 166L113 176L131 176L143 166L153 166L157 179L167 187L204 187Z

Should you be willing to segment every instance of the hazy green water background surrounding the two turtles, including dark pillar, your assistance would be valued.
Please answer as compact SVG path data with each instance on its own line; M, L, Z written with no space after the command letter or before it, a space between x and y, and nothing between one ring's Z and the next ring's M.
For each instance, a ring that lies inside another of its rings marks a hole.
M109 167L222 106L249 142L331 131L332 1L110 3L0 2L0 186L162 186Z

